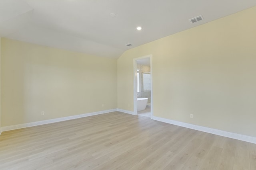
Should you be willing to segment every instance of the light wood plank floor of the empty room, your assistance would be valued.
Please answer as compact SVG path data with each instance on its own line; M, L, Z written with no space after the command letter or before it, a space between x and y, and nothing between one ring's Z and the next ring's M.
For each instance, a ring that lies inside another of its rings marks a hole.
M0 136L0 170L256 170L256 145L112 112Z

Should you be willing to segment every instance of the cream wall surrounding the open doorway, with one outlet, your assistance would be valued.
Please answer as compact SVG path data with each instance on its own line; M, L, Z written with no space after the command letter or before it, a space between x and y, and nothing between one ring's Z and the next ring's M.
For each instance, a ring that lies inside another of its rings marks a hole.
M256 7L126 51L118 108L133 111L133 59L152 54L154 116L256 137L255 16Z

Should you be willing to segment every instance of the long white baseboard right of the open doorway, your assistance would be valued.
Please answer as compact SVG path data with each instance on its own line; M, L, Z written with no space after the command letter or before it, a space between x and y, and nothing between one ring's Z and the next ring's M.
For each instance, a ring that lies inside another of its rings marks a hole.
M193 124L184 123L184 122L180 122L180 121L174 121L174 120L165 119L165 118L162 118L162 117L152 116L151 119L156 120L156 121L162 121L164 123L169 123L169 124L172 124L172 125L178 125L178 126L186 127L186 128L189 128L189 129L194 129L194 130L198 130L198 131L212 133L212 134L215 134L215 135L220 135L220 136L223 136L223 137L238 139L240 141L246 141L246 142L256 144L256 137L241 135L241 134L237 134L237 133L231 133L231 132L227 132L227 131L221 131L221 130L218 130L218 129L212 129L212 128L209 128L209 127L203 127L203 126L193 125Z

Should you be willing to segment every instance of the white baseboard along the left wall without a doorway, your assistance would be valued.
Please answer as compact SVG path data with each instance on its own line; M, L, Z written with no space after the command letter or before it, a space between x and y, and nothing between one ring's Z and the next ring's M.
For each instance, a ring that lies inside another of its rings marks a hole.
M49 124L49 123L56 123L56 122L60 122L60 121L78 119L78 118L82 118L82 117L100 115L100 114L104 114L104 113L110 113L113 111L117 111L117 109L96 111L96 112L92 112L92 113L85 113L85 114L81 114L81 115L74 115L74 116L68 116L68 117L60 117L60 118L56 118L56 119L49 119L49 120L43 120L43 121L35 121L35 122L23 123L23 124L19 124L19 125L4 126L4 127L1 127L1 129L3 132L11 131L11 130L22 129L22 128L26 128L26 127L33 127L33 126L45 125L45 124ZM1 132L1 129L0 129L0 132Z

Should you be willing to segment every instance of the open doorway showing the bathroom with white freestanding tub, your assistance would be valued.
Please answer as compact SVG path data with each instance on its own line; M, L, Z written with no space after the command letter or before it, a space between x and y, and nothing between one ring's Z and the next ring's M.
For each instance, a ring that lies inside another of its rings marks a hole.
M152 117L151 55L134 59L134 113Z

